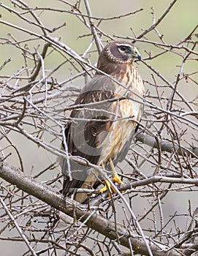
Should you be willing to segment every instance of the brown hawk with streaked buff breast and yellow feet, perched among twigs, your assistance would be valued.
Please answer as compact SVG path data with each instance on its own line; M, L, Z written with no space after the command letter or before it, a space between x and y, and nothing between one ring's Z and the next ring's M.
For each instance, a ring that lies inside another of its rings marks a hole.
M134 59L140 60L141 56L130 42L112 41L104 47L97 63L99 71L75 101L78 108L72 110L72 121L66 124L63 142L72 156L112 170L113 182L118 184L123 182L115 172L115 165L126 157L142 115L144 85ZM62 193L73 193L80 203L85 202L87 195L75 194L75 189L96 189L102 178L93 168L68 162L66 158L61 159L61 170Z

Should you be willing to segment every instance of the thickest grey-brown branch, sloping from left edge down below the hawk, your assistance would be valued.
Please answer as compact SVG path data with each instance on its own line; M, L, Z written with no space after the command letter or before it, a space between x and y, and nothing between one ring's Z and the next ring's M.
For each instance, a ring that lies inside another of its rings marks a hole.
M58 193L55 189L47 187L39 181L35 181L17 168L7 164L1 164L0 176L19 189L22 189L24 192L39 198L70 217L74 217L75 213L77 219L80 219L85 225L111 240L116 240L117 236L119 236L121 245L130 248L131 243L135 254L148 255L143 239L137 234L129 233L121 224L116 224L117 226L115 228L115 223L110 221L110 219L102 217L102 215L97 214L95 210L88 210L75 200L63 197L63 195ZM169 256L181 255L179 250L169 250L168 246L164 246L157 241L152 241L151 238L147 239L148 244L151 246L153 256L165 256L167 255L167 251L169 252Z

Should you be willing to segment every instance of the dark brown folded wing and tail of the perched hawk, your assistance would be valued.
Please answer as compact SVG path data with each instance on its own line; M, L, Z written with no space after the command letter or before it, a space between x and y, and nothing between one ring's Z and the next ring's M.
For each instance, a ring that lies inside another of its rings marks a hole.
M83 157L93 164L97 164L102 147L112 125L113 104L108 99L114 98L115 83L103 75L96 75L83 88L75 101L75 105L86 104L83 108L73 110L72 121L65 129L66 143L69 154ZM94 105L92 104L94 102ZM91 104L89 104L91 103ZM69 169L66 159L61 160L64 173L63 194L67 195L72 189L82 187L91 169L70 161L72 181L69 180ZM92 174L93 176L93 174ZM96 181L96 177L89 178ZM92 184L92 183L91 183ZM70 191L69 191L70 189Z

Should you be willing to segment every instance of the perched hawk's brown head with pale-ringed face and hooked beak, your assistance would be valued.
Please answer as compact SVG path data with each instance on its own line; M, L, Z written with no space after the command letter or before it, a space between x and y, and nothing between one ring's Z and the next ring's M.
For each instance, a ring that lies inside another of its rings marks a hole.
M141 55L136 47L130 42L112 41L109 42L102 50L107 60L112 63L133 62L134 59L140 61Z

